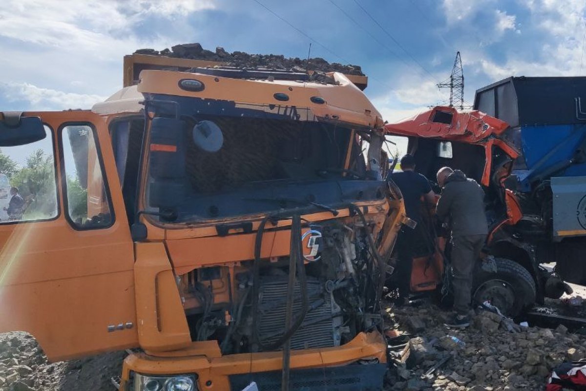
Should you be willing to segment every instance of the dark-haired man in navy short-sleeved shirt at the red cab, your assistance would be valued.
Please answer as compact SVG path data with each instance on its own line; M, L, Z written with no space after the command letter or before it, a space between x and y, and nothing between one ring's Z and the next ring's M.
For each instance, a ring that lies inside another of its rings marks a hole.
M415 159L407 154L401 158L403 172L393 172L387 176L401 191L405 203L405 213L417 222L414 229L403 227L397 237L397 279L400 301L405 301L410 291L411 268L414 250L421 249L426 240L421 227L421 197L425 202L434 204L435 194L425 176L415 172ZM431 245L431 244L430 244Z

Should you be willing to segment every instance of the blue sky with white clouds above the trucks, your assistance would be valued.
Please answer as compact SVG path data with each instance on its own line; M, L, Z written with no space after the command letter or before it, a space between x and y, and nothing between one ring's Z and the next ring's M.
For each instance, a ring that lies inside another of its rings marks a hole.
M461 52L465 100L509 76L586 72L586 0L2 0L0 110L91 108L122 57L199 42L358 64L390 123L445 101ZM277 14L280 16L275 16Z

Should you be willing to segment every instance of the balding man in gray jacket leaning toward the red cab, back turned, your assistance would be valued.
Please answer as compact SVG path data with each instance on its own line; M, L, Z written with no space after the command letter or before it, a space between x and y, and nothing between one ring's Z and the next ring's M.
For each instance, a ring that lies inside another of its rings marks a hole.
M446 325L468 327L472 295L472 271L488 234L484 209L484 191L464 172L441 168L437 174L442 187L437 216L449 218L452 230L452 285L454 286L454 319Z

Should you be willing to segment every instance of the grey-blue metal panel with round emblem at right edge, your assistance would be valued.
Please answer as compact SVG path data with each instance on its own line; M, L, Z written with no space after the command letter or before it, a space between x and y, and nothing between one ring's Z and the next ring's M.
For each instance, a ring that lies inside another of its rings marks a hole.
M551 178L553 236L586 235L586 176Z

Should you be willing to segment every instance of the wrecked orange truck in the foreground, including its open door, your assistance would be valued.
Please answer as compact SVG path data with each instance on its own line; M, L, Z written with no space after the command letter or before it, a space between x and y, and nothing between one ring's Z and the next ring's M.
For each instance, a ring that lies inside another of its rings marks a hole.
M380 389L405 217L379 112L340 73L165 61L91 110L0 114L49 172L0 222L0 332L137 348L121 390Z

